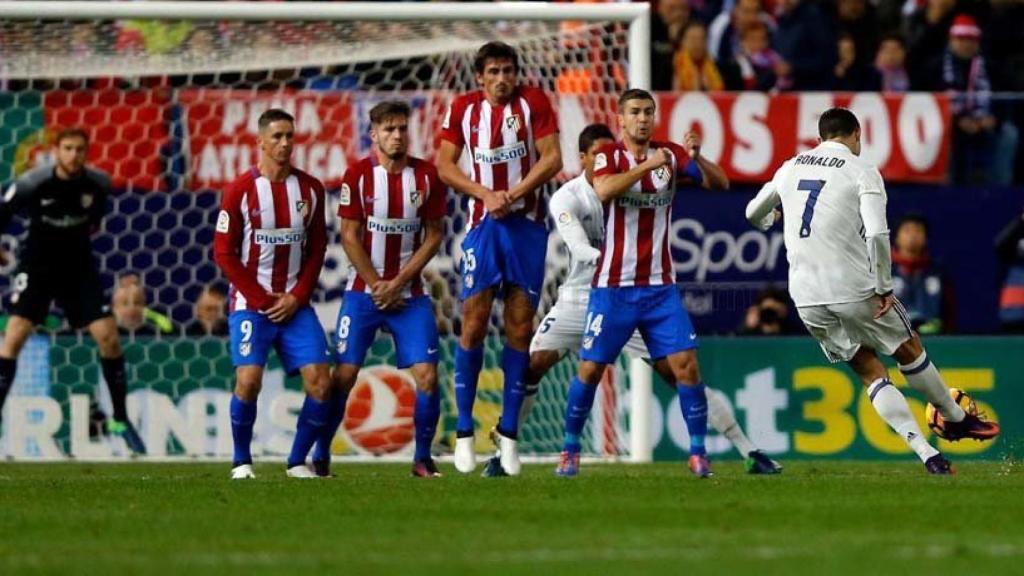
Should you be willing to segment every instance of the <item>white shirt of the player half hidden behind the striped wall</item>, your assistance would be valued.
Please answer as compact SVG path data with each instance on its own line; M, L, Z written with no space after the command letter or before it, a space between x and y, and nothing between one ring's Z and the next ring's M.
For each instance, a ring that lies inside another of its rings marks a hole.
M570 258L558 301L586 304L604 244L604 208L584 173L562 184L548 201L548 209Z

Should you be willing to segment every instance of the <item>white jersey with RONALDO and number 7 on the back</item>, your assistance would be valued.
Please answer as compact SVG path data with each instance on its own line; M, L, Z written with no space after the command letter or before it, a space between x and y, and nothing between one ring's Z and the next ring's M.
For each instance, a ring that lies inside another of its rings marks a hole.
M878 168L833 141L799 154L746 206L762 230L782 204L790 295L798 307L859 302L892 290L886 190Z

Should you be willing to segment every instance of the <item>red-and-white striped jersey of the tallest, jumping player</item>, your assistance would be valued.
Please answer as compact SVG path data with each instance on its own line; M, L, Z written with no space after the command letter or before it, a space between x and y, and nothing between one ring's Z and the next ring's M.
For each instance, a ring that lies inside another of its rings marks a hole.
M473 161L470 177L492 190L509 190L519 183L537 164L536 141L558 132L558 119L551 100L540 88L519 86L502 108L490 106L482 90L457 97L441 124L441 138L464 148ZM544 189L520 198L515 212L536 221L547 217ZM486 215L483 202L469 199L467 230Z

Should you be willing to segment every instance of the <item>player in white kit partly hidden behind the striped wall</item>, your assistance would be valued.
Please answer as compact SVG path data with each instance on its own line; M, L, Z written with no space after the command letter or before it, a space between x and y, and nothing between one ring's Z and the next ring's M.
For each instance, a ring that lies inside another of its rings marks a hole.
M558 288L558 301L548 312L529 344L529 371L526 374L526 400L519 416L519 426L526 420L540 386L541 378L566 353L580 349L583 342L587 304L591 282L601 256L604 242L604 208L594 192L594 158L601 148L614 141L611 129L604 124L591 124L580 132L582 174L558 189L548 207L558 233L569 251L569 272ZM649 359L650 354L639 331L626 343L625 351L633 357ZM666 382L674 381L672 373L659 366L658 374ZM777 462L768 457L746 438L736 421L725 396L713 388L708 395L708 420L746 460L751 474L778 474Z

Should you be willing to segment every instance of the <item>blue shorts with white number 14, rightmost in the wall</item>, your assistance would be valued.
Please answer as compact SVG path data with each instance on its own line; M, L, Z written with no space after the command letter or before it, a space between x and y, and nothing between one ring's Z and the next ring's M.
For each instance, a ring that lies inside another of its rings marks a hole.
M674 285L594 288L580 358L615 362L634 330L643 336L651 360L697 347L690 315Z

